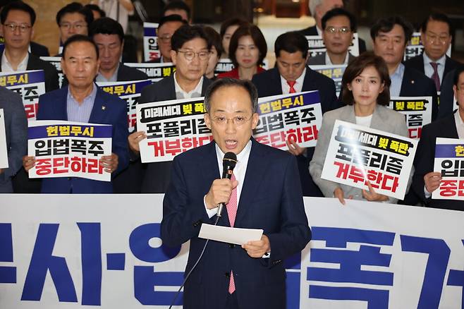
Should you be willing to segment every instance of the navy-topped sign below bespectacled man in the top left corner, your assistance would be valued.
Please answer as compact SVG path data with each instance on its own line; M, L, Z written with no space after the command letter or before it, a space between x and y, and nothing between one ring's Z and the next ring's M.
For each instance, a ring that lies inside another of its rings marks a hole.
M45 93L43 70L0 72L0 86L18 93L23 99L28 121L35 120L39 109L39 96Z

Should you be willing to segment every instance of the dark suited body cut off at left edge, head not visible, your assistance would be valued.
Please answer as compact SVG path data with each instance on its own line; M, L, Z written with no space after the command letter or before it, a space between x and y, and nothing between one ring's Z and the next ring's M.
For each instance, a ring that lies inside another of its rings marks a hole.
M0 193L13 193L11 178L21 168L28 150L28 120L23 100L16 92L0 87L0 109L4 110L6 152L8 168L0 169Z

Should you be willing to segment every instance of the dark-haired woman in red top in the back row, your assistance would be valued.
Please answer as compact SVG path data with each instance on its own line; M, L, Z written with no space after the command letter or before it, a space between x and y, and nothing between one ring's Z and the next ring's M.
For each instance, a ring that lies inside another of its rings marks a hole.
M260 28L255 25L242 25L233 33L228 48L228 55L235 68L217 77L251 80L253 75L265 71L261 66L266 53L266 40Z

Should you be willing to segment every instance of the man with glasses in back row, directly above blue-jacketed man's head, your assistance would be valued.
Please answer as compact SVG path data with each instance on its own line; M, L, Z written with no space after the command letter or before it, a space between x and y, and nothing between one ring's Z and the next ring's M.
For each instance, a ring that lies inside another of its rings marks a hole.
M92 21L92 11L78 2L61 8L56 13L56 24L60 30L61 44L64 44L73 35L88 35L88 27ZM59 56L61 56L61 52Z

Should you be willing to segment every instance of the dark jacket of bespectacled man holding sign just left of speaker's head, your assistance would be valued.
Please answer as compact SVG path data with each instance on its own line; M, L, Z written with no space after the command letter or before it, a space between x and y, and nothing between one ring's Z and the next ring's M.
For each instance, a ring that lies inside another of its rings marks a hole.
M202 96L211 84L211 80L203 78ZM174 75L143 88L140 103L167 101L169 99L176 99ZM165 193L169 185L171 166L172 162L148 163L142 181L142 193Z

